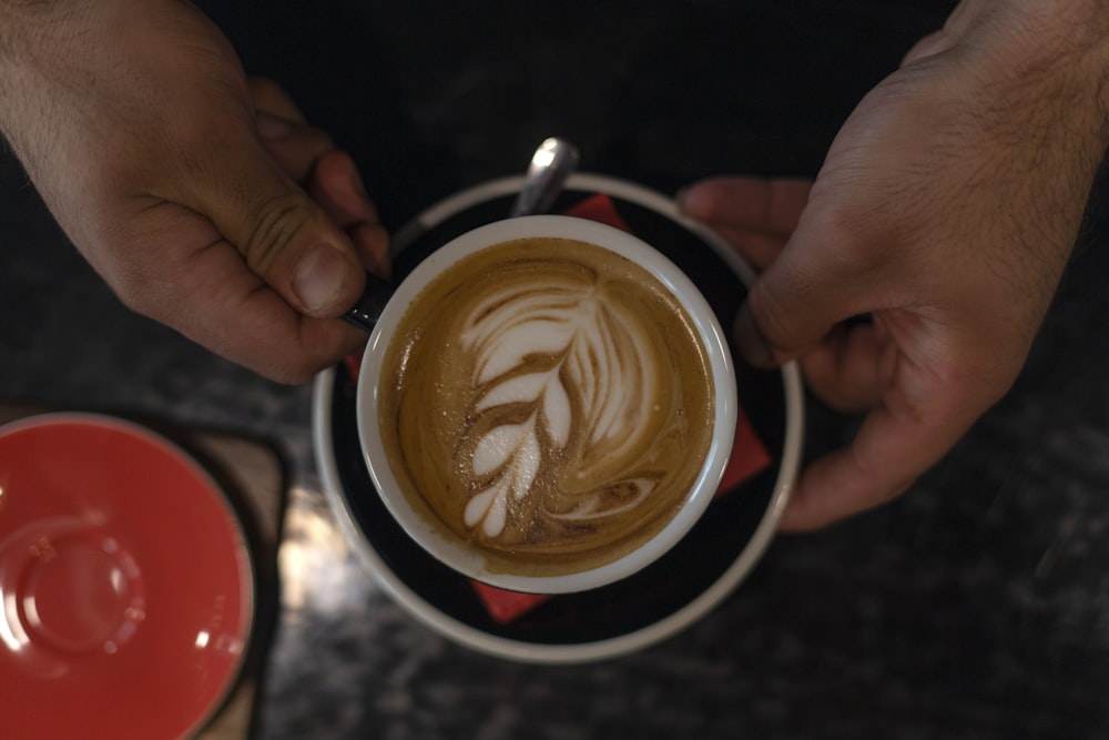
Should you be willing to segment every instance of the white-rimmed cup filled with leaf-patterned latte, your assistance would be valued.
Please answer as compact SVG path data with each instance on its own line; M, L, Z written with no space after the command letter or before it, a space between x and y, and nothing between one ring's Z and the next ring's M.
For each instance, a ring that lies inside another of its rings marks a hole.
M563 216L484 230L419 265L375 330L359 379L372 475L418 541L468 571L442 545L465 553L482 580L554 592L627 575L692 526L723 472L722 333L629 234Z

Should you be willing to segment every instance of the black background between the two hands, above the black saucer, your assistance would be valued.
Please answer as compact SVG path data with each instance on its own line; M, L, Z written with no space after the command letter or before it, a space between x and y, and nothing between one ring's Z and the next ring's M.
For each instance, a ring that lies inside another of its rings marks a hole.
M202 2L403 221L516 173L548 135L587 170L669 191L814 174L857 100L954 3Z

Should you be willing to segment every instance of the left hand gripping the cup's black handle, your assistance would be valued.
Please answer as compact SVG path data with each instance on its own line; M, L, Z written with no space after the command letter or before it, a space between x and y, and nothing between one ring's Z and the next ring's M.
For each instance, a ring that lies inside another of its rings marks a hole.
M285 383L365 341L336 316L387 270L387 235L354 163L204 16L0 8L0 131L125 304Z

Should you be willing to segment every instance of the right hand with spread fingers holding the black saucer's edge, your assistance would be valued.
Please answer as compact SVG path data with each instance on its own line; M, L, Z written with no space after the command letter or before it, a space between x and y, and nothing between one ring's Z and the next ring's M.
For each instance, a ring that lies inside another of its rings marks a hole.
M746 358L800 358L814 394L866 414L802 474L783 529L899 495L1018 375L1105 152L1109 34L1079 12L1095 6L964 2L859 103L812 185L685 191L763 271L735 324Z

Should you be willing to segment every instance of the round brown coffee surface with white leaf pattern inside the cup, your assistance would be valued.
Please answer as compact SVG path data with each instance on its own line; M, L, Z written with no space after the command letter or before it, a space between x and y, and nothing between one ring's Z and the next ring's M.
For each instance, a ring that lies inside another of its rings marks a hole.
M406 496L490 562L571 572L676 511L712 437L708 358L645 270L568 240L466 257L394 335L379 423Z

